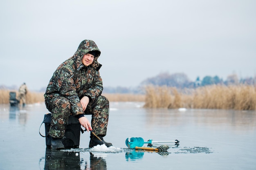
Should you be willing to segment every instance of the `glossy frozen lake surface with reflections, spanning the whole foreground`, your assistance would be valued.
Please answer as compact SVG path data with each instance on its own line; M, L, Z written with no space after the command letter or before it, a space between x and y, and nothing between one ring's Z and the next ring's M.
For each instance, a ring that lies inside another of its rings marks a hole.
M90 134L84 132L79 148L52 151L39 135L44 115L49 113L44 103L24 108L0 104L0 170L256 169L255 111L142 106L137 102L110 102L104 140L112 147L89 149ZM44 124L40 132L44 135ZM160 154L128 149L128 137L141 137L144 141L177 139L180 143L168 143L168 152Z

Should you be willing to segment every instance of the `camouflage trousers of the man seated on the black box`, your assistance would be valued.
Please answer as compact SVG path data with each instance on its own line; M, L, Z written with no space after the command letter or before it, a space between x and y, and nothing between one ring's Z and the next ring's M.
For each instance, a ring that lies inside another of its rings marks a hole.
M52 121L49 135L52 137L64 137L65 127L70 116L70 102L65 97L53 97L45 101L47 109L52 113ZM105 136L108 126L109 102L104 96L97 97L93 103L89 103L85 115L92 115L92 129L96 135Z

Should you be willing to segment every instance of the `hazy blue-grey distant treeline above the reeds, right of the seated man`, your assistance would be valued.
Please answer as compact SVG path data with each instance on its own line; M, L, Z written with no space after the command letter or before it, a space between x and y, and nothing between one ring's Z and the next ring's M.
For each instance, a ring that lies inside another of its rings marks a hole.
M160 73L155 77L150 77L142 81L139 86L135 88L128 87L104 87L105 93L124 93L124 94L145 94L145 86L167 86L175 87L177 89L184 88L198 88L211 85L252 85L256 86L256 76L247 78L238 78L236 74L228 75L224 80L216 76L205 76L202 79L197 77L195 81L189 80L188 76L184 73Z

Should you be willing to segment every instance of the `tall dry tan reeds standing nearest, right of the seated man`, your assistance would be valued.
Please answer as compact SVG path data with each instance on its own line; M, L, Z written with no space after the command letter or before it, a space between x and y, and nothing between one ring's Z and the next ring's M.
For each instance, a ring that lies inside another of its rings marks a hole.
M213 85L178 91L147 86L144 107L256 110L256 87Z

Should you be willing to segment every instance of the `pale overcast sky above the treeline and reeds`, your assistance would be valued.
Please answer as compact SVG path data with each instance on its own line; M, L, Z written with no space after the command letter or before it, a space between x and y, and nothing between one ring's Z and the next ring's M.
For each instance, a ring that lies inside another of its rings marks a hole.
M255 0L1 0L0 85L46 87L82 40L101 50L103 86L159 73L256 75Z

